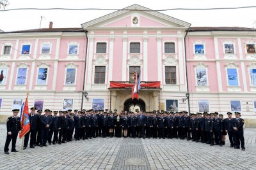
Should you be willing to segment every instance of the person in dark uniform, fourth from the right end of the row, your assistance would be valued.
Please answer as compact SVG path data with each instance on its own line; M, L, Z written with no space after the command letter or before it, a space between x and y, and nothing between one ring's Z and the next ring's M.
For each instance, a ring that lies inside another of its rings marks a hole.
M222 123L221 123L221 119L218 117L219 113L218 112L214 112L215 115L215 120L214 120L214 139L215 139L215 143L216 145L220 145L222 146Z

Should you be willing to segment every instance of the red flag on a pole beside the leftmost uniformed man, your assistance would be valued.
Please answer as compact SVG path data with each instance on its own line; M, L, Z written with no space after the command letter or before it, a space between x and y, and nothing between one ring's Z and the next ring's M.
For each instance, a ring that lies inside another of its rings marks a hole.
M21 132L19 134L19 138L22 138L30 130L30 122L29 122L29 115L28 115L28 97L26 98L26 102L22 110L22 114L20 117L20 125L21 125Z

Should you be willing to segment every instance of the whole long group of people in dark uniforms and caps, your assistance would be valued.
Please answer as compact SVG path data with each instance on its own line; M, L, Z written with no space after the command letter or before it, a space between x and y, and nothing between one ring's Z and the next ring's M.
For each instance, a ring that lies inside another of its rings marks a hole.
M9 154L9 145L12 141L12 152L15 149L17 136L21 131L19 110L13 110L13 116L9 117L7 137L4 153ZM227 118L222 114L214 113L190 113L187 111L168 112L131 112L117 110L82 110L77 111L51 111L30 109L30 130L24 137L23 150L44 147L48 145L61 145L73 140L87 140L97 137L102 138L180 138L196 143L209 145L225 145L226 138L230 141L230 147L242 150L244 148L244 120L241 113L227 113Z

